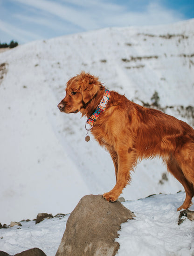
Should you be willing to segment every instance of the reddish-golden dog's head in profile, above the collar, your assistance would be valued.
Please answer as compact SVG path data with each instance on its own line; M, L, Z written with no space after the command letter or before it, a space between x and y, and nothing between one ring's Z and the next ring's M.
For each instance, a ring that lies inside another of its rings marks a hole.
M58 104L59 110L65 113L77 113L85 108L101 87L97 77L81 72L67 82L66 95Z

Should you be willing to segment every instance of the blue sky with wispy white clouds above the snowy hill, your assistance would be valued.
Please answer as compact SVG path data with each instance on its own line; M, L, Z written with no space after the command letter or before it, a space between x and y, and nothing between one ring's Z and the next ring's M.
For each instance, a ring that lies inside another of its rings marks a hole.
M0 43L194 18L194 0L0 0Z

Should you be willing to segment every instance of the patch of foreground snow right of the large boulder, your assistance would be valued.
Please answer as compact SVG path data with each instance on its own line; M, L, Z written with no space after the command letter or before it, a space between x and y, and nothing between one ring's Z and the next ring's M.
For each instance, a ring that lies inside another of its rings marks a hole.
M125 207L134 211L136 218L121 225L118 255L193 255L194 223L185 219L177 225L179 212L176 209L184 196L181 192L125 202Z

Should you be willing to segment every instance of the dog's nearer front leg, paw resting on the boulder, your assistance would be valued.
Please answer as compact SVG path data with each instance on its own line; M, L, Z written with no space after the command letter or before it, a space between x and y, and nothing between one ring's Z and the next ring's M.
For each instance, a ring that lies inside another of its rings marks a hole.
M123 189L126 187L128 183L130 183L130 171L136 165L136 154L135 151L132 150L121 150L117 151L118 154L118 173L117 173L117 183L114 188L104 193L103 197L107 201L114 202L118 199Z

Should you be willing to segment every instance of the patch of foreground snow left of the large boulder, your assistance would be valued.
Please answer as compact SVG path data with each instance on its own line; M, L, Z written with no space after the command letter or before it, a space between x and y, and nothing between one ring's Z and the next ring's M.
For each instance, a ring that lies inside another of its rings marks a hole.
M14 226L0 229L0 250L10 255L31 248L39 248L47 256L54 256L64 233L69 214L61 218L45 219L35 224L35 221L21 222L22 227Z

